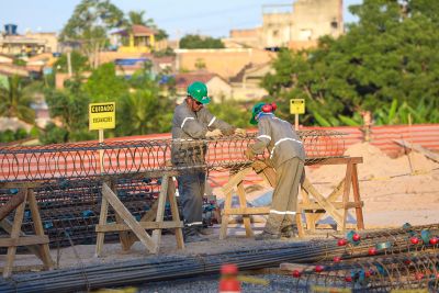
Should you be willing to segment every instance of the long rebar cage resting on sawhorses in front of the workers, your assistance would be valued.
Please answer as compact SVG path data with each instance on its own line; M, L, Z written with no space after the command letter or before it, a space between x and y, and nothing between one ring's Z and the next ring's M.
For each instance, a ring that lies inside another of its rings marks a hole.
M300 132L300 136L305 147L307 165L329 157L340 157L345 153L341 133L305 131ZM188 168L239 168L251 164L244 151L254 140L255 135L248 135L214 140L151 139L7 147L0 149L0 182L90 178L102 173L126 174Z

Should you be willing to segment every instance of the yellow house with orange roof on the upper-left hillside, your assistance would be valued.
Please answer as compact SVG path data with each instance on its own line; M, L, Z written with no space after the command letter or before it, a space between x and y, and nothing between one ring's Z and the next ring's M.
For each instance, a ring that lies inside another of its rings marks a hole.
M150 53L155 47L156 30L145 25L133 25L131 30L122 30L111 34L111 43L117 52Z

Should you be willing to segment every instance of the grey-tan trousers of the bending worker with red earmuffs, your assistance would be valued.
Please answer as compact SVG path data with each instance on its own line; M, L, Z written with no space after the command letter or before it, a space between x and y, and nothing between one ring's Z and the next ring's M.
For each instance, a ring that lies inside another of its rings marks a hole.
M282 228L296 224L295 213L303 170L304 161L300 158L289 159L275 168L278 183L273 191L264 232L279 234Z

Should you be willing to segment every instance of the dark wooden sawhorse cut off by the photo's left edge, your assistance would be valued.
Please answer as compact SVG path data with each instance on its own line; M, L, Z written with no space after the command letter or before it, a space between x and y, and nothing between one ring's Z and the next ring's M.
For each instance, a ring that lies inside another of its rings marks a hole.
M53 261L50 258L48 243L49 239L44 235L43 224L40 216L38 205L36 203L35 194L32 184L23 184L18 189L18 193L12 195L0 211L1 221L0 226L10 234L9 238L0 238L0 247L8 247L5 264L3 268L3 277L8 278L12 274L13 262L15 259L16 247L24 246L29 251L34 253L43 262L43 268L50 270ZM34 184L35 185L35 184ZM2 185L3 188L16 188L12 183ZM35 235L25 235L21 230L23 223L24 210L29 204L32 221L34 223ZM15 211L14 219L11 223L4 218L12 211Z

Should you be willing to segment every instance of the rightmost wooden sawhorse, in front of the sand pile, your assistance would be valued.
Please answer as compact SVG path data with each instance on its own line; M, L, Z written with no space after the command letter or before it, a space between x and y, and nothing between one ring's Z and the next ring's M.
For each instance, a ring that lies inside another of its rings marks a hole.
M357 168L357 165L362 161L362 157L340 157L322 159L316 164L346 165L346 174L333 192L326 198L319 193L307 179L305 179L302 184L303 200L299 203L299 211L305 215L307 230L314 233L317 221L327 213L337 223L337 229L345 233L349 209L356 209L357 229L364 229L362 212L363 202L360 199ZM349 200L351 187L353 201ZM341 202L337 201L341 194ZM300 224L303 225L302 218L300 221Z

